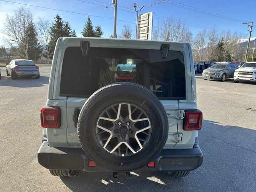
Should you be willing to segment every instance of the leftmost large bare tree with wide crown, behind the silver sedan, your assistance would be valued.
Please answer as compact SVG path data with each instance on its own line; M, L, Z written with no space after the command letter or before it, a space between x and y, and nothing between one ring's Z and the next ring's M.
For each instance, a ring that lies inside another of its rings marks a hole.
M26 59L28 59L29 44L29 37L26 30L30 22L32 22L30 10L25 7L19 7L17 10L14 10L13 16L6 14L6 20L4 22L5 29L3 31L6 36L5 41L11 45L15 41L19 46L20 54Z

